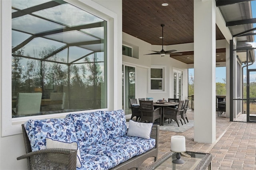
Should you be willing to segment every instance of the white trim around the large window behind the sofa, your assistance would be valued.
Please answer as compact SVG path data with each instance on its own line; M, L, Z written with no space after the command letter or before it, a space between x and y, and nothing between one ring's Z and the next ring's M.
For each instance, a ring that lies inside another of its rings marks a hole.
M93 2L92 0L86 1L86 4L81 3L79 1L74 1L74 0L66 0L70 4L73 4L75 6L79 6L80 8L86 10L87 12L90 12L91 14L95 14L96 16L99 16L100 18L106 20L108 22L108 56L110 55L110 51L112 51L115 46L110 46L109 38L110 36L110 31L117 26L117 15L108 10L107 8L104 8L103 6L100 6L96 2ZM87 9L88 8L88 9ZM97 9L97 10L96 10ZM104 11L104 14L100 11ZM10 57L6 56L12 56L12 38L10 37L12 35L12 2L4 0L2 1L2 23L1 23L1 28L2 28L2 70L1 72L1 83L0 83L0 89L1 89L1 104L2 104L2 136L10 136L14 134L21 134L22 133L22 128L21 124L26 122L29 119L44 119L44 118L64 118L67 113L60 113L60 114L54 114L54 115L40 115L40 116L27 116L27 117L21 117L21 118L12 118L12 88L11 88L11 75L12 75L12 60ZM111 29L110 29L111 28ZM111 34L113 37L114 34ZM115 41L116 42L116 41ZM109 58L109 57L108 57ZM115 58L117 58L115 56ZM109 66L110 62L114 62L115 58L111 61L107 61L108 63L108 68L111 68ZM108 72L108 89L107 89L107 100L110 101L109 99L109 72ZM115 81L115 80L113 80ZM111 103L112 104L112 103ZM107 108L105 109L100 109L100 110L108 110L110 108L110 103L108 102ZM115 108L115 106L114 106ZM81 112L94 112L96 110L85 110L85 111L78 111L74 113L81 113ZM72 112L73 113L73 112Z

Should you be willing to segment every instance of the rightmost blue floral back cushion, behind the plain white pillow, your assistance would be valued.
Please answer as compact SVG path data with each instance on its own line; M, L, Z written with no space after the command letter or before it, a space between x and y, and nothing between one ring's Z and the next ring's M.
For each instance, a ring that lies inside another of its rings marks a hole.
M108 140L127 133L124 110L102 111L102 119Z

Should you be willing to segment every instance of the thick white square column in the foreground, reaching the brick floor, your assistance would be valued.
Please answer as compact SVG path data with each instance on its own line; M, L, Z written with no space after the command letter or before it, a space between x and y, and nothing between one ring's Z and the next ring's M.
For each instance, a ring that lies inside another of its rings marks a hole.
M216 140L215 0L194 0L194 141Z

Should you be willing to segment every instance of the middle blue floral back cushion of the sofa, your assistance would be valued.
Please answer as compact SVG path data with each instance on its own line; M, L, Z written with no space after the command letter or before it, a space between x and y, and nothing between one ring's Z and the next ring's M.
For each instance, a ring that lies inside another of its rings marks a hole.
M76 129L76 138L80 148L106 140L101 112L68 114Z

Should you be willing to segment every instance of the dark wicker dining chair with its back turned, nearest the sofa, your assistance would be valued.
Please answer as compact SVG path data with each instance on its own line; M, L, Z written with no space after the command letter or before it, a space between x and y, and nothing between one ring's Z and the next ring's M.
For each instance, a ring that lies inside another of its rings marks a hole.
M140 122L152 122L154 123L155 120L160 119L160 125L161 125L161 117L162 117L162 108L155 108L153 101L144 101L140 100Z

